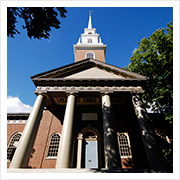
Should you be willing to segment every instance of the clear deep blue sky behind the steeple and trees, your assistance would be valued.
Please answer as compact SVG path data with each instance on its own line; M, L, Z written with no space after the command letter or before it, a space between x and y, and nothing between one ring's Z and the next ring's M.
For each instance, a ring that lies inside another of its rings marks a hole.
M67 7L67 6L66 6ZM52 29L48 40L29 39L18 20L20 35L7 37L7 96L18 97L33 106L36 96L32 75L74 62L73 44L88 25L92 10L92 26L107 44L106 62L128 66L137 41L149 37L158 28L173 22L172 7L67 7L67 18L60 18L61 28ZM16 99L17 100L17 99Z

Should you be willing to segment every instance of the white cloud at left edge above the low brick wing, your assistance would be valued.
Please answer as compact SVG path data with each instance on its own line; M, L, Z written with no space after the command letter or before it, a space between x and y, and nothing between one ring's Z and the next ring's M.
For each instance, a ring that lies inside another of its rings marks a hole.
M7 97L7 112L8 113L29 113L32 107L21 102L19 97Z

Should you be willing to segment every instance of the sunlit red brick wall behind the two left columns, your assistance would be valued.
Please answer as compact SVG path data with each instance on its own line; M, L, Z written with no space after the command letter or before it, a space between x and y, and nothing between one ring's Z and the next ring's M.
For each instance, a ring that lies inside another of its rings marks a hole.
M8 124L7 125L7 144L11 136L16 132L23 132L25 124ZM49 140L53 133L61 134L61 121L57 119L50 111L45 110L39 125L31 158L28 164L29 168L55 168L56 159L46 158ZM7 163L9 168L10 163Z

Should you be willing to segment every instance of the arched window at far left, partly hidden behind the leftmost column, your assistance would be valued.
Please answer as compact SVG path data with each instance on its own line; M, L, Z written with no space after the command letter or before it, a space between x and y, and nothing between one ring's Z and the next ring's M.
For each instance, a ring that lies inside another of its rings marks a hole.
M13 134L10 139L10 142L7 148L7 161L8 162L11 162L14 156L20 137L21 137L21 133L18 132L18 133Z

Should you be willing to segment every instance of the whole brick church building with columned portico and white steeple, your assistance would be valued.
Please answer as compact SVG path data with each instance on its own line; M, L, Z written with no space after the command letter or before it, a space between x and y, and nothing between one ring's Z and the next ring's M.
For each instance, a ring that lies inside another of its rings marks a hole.
M30 114L8 115L7 167L163 167L140 98L147 77L105 62L91 15L74 54L74 63L31 77Z

